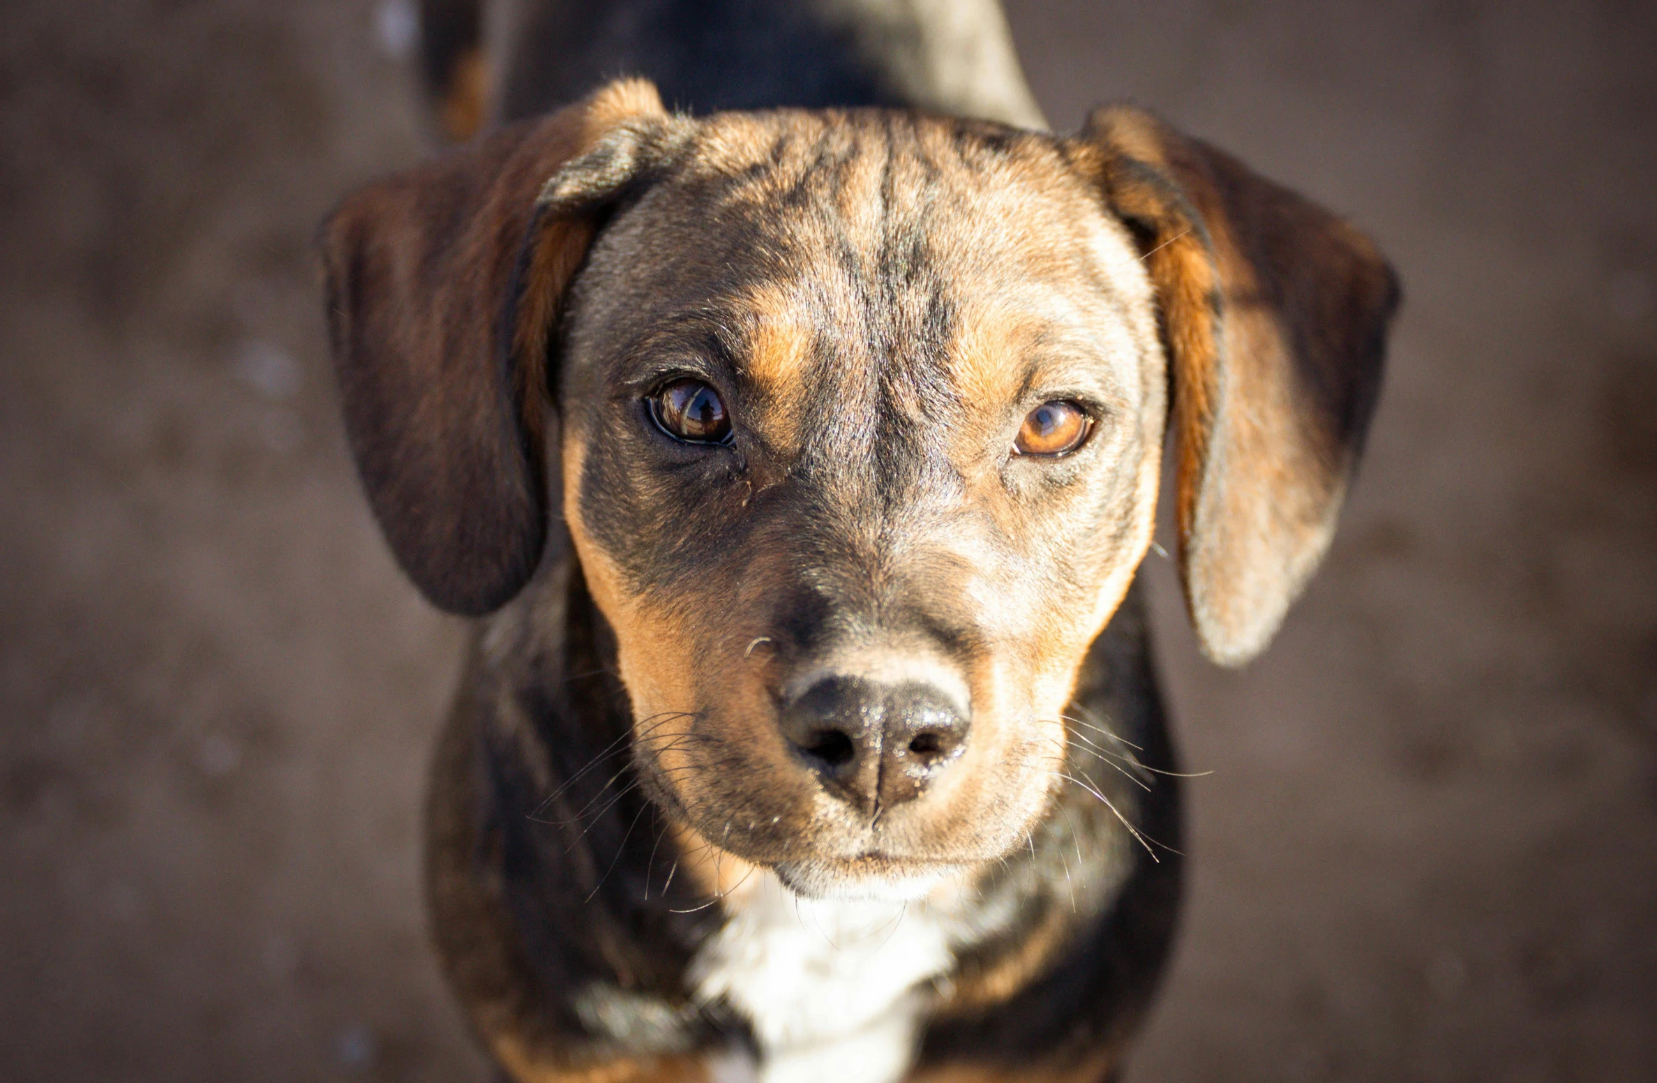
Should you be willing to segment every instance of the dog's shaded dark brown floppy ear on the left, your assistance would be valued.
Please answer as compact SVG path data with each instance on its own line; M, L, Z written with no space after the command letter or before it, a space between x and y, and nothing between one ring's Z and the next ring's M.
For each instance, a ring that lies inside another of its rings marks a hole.
M681 121L645 81L350 197L321 231L345 426L403 571L442 609L504 605L547 536L547 348L600 206Z

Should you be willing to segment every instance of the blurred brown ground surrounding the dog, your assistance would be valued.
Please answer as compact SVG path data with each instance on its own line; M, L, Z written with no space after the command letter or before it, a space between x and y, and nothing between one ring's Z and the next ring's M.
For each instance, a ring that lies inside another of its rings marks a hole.
M1135 1081L1657 1078L1657 8L1017 0L1369 227L1408 300L1334 552L1196 658ZM356 491L308 242L428 153L409 8L0 35L0 1080L476 1080L416 816L457 622Z

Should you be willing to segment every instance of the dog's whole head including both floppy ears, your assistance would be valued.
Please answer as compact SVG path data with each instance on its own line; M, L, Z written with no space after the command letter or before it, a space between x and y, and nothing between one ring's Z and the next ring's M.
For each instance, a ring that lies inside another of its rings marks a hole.
M358 192L323 247L403 567L487 614L562 511L658 801L817 894L1022 843L1167 425L1200 640L1264 645L1397 295L1349 226L1135 109L689 119L636 81Z

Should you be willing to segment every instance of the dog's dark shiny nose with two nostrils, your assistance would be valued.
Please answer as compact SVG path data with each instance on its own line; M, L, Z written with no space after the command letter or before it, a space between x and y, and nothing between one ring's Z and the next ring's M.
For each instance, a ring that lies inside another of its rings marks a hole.
M824 677L782 710L795 755L830 793L870 814L921 796L959 758L966 731L951 697L916 682Z

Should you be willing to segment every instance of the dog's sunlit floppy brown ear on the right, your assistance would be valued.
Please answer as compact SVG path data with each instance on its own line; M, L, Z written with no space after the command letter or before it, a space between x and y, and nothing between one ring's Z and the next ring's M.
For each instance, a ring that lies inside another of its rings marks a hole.
M1185 597L1205 653L1241 665L1329 547L1397 279L1344 221L1140 109L1095 111L1070 148L1157 289Z

